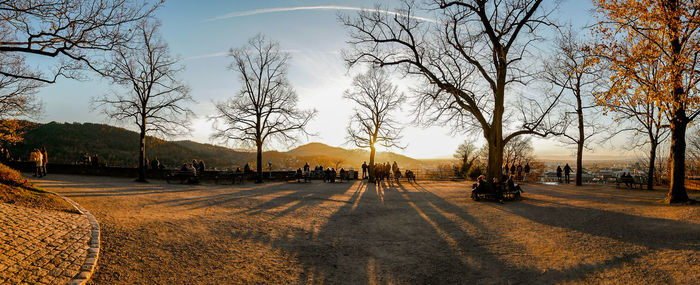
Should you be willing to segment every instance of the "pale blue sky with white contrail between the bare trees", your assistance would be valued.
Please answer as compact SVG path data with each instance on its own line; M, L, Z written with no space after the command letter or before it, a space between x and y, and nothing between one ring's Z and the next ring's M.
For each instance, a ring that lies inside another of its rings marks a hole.
M233 96L239 88L237 76L227 69L231 59L227 51L243 46L256 34L263 34L279 42L282 50L291 54L289 80L299 96L301 108L315 108L317 117L309 124L313 137L302 137L299 144L318 141L332 146L351 147L346 143L345 128L352 112L343 91L350 87L352 75L340 56L347 48L346 29L338 22L337 13L353 15L359 8L373 8L376 1L321 1L321 0L268 0L268 1L188 1L167 0L156 12L162 21L162 35L171 52L182 58L186 70L180 75L191 87L197 101L191 107L197 118L192 121L191 135L170 138L213 143L208 116L213 115L213 102ZM380 2L385 6L395 1ZM563 1L558 15L574 26L582 27L593 21L590 1ZM394 82L409 92L410 78ZM101 122L134 129L130 122L118 124L108 121L98 110L93 110L90 99L112 90L107 80L91 76L88 80L62 79L43 88L38 96L44 102L45 112L40 122ZM410 101L408 101L410 104ZM410 105L397 117L407 122L402 143L405 149L391 151L415 158L451 157L465 139L478 139L480 134L452 134L444 126L422 128L410 124ZM535 139L535 153L548 157L570 157L573 152L553 139ZM269 148L285 150L287 146ZM382 150L380 148L380 150ZM606 156L619 150L609 146L594 148L596 156Z

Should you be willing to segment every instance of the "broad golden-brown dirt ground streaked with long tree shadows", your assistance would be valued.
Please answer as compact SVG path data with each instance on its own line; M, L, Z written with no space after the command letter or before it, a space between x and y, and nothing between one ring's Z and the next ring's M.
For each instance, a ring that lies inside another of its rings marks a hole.
M700 284L700 206L663 191L526 185L502 205L466 182L38 183L100 222L93 284Z

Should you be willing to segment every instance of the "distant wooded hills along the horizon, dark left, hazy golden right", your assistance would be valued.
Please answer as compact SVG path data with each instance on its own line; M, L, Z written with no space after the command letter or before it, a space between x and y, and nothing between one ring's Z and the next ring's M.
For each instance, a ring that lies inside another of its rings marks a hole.
M138 161L138 133L106 124L93 123L27 123L24 141L9 147L12 156L26 160L32 148L46 146L50 162L74 163L84 153L97 153L108 165L134 167ZM158 157L161 163L175 167L185 161L203 159L208 167L220 169L255 165L255 153L203 144L193 141L167 141L153 137L146 139L146 155ZM309 143L287 152L266 151L264 161L271 161L273 169L295 169L305 162L310 165L359 167L369 160L366 150L332 147ZM396 161L402 167L427 167L434 162L413 159L391 152L378 152L377 162ZM265 165L267 167L267 165Z

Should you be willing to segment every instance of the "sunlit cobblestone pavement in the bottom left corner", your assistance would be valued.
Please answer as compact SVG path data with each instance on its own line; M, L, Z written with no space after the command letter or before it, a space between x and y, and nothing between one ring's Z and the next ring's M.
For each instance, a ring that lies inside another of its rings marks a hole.
M85 270L90 238L86 215L0 203L0 284L71 282Z

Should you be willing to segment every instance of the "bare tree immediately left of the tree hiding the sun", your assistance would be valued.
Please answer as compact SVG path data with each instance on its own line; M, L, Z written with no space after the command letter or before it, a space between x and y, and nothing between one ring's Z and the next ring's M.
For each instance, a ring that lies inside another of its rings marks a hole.
M316 110L297 107L297 94L287 80L289 54L279 44L257 35L248 45L231 49L229 69L238 73L241 89L233 98L217 102L213 139L254 146L257 150L257 182L262 182L262 150L269 140L291 144L295 133L306 134Z

